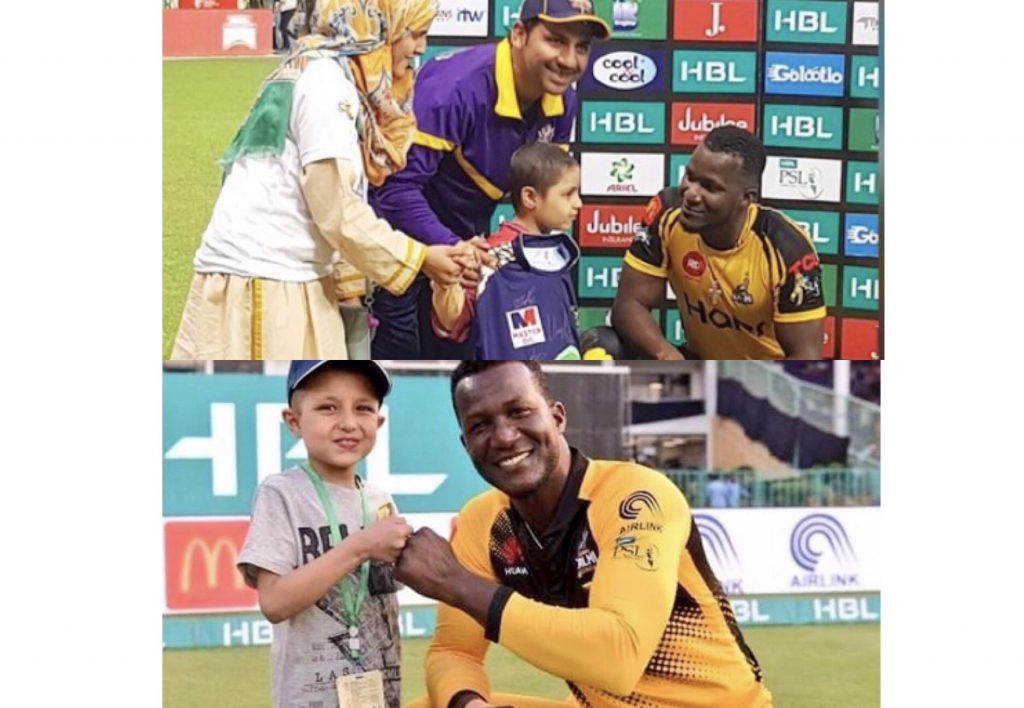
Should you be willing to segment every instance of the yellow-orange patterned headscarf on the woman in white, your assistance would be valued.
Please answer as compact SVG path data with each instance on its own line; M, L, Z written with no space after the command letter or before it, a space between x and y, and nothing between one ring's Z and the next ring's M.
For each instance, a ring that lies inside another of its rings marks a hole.
M392 77L391 45L426 31L436 11L436 0L316 0L315 34L299 39L285 61L285 68L302 71L315 56L346 57L366 109L360 142L374 186L406 166L416 130L413 72Z

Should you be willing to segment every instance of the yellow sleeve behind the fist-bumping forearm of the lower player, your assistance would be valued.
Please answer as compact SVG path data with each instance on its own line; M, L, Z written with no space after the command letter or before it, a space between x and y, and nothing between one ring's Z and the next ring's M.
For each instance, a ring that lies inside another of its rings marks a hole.
M470 503L456 520L452 550L464 568L474 575L497 582L487 555L490 515L484 505ZM437 625L427 650L427 693L430 705L447 706L462 691L490 695L483 659L490 642L483 627L461 610L437 605Z

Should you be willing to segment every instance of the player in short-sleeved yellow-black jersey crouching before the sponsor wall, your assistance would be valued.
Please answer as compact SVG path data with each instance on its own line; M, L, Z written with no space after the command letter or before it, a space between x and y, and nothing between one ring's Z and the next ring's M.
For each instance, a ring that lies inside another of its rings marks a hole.
M825 303L810 237L757 203L765 150L735 126L693 151L683 182L647 205L627 252L611 324L651 359L683 359L650 317L676 294L700 359L820 359Z

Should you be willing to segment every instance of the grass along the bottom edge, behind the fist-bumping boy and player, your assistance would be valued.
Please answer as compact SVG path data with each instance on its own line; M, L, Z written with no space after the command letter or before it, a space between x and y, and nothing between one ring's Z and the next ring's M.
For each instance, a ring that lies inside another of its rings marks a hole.
M871 708L881 702L879 625L748 627L776 708ZM426 693L427 639L402 642L402 700ZM164 706L269 706L269 649L164 652ZM496 691L562 699L565 684L501 647L487 654Z

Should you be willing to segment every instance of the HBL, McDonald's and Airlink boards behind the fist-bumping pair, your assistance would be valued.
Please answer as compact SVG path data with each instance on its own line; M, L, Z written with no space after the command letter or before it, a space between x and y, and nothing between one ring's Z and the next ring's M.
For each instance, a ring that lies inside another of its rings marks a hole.
M459 443L445 376L396 375L387 422L360 473L388 489L416 527L447 536L486 485ZM281 422L284 380L164 375L166 647L268 643L255 591L234 568L256 485L304 458ZM445 402L445 413L422 411ZM420 415L415 415L420 412ZM697 509L697 530L740 622L879 621L878 508ZM398 594L404 636L433 633L434 608Z

